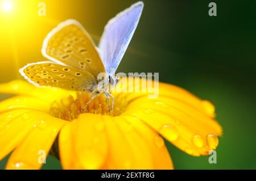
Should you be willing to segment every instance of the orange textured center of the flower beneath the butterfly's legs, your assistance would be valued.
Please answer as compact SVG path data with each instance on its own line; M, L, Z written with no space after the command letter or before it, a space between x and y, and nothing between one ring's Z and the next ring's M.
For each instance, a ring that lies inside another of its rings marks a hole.
M52 103L49 113L51 115L64 119L67 121L72 121L73 119L77 119L80 115L80 111L82 107L90 100L92 95L84 92L82 95L77 93L77 99L73 98L73 96L69 95L67 98L62 98L60 100L55 100ZM112 99L110 98L110 105L112 105ZM104 94L100 94L96 96L85 108L82 113L97 113L102 115L111 115L118 116L120 115L126 108L127 101L125 98L121 98L117 96L114 99L114 109L113 112L109 111L109 104Z

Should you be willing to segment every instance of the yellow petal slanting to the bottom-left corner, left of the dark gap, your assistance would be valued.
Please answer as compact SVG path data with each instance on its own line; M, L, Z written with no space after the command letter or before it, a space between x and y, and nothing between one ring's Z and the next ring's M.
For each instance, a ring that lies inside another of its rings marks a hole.
M47 113L31 112L30 115L37 123L11 153L6 169L40 169L59 130L66 123Z

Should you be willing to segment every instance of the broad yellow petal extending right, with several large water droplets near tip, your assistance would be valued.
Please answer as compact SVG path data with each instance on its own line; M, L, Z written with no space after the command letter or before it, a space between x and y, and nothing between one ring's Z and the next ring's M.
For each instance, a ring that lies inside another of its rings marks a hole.
M195 156L206 155L214 146L216 148L217 145L207 141L209 134L217 138L222 133L217 121L200 110L162 96L135 99L123 114L139 117L172 144Z

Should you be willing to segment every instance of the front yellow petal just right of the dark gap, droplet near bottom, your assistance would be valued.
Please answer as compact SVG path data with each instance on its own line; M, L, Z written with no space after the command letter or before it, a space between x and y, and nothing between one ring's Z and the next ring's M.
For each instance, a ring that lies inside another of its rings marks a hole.
M68 138L67 135L71 137ZM67 155L71 150L65 150L67 146L64 144L72 146L73 154ZM108 153L102 115L81 114L61 131L59 147L61 162L65 169L100 169ZM74 165L74 162L79 164Z

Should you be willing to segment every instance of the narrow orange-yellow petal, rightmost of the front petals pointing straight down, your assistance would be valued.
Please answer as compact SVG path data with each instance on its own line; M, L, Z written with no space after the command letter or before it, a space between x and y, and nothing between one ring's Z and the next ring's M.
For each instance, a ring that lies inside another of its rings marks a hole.
M152 159L153 163L152 169L174 169L171 157L166 146L164 145L163 138L161 138L158 133L153 131L150 127L148 127L148 125L144 124L143 121L137 117L127 115L121 117L130 123L129 127L131 128L129 129L134 129L137 136L142 139L142 145L144 146L144 144L146 144L145 147L147 148L147 152L150 154L150 159ZM136 143L137 142L134 144ZM141 144L141 142L138 142L138 144Z

